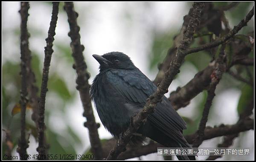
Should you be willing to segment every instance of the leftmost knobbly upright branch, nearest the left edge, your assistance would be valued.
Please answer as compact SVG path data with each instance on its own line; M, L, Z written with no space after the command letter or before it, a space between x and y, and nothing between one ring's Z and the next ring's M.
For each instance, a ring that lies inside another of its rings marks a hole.
M20 3L20 54L21 54L21 91L20 91L20 139L18 142L17 152L20 156L27 155L26 149L29 147L28 141L26 140L26 104L27 99L27 65L28 60L30 59L30 50L29 50L29 33L27 30L27 20L29 16L29 3L21 2Z

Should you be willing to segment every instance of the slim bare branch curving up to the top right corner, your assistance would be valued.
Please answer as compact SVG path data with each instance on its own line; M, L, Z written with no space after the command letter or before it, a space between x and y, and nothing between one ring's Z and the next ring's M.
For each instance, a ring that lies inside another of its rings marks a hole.
M199 52L199 51L203 51L205 49L209 49L212 47L216 47L219 46L220 44L224 43L225 41L229 40L231 37L233 37L236 33L239 32L240 29L242 29L244 26L247 25L248 21L253 17L254 15L254 7L253 9L250 10L250 12L246 15L246 17L240 21L240 23L237 26L234 26L234 29L231 30L227 35L225 35L222 38L219 38L211 43L202 45L202 46L198 46L195 48L191 48L189 50L186 51L185 55L188 55L190 53L194 53L194 52Z

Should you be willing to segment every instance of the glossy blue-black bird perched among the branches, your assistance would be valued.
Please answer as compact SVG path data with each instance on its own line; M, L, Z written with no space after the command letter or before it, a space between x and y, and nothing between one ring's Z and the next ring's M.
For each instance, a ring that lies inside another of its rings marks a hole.
M128 129L131 117L140 112L157 86L138 69L128 55L109 52L93 55L99 62L99 74L93 79L90 97L104 127L116 138ZM186 122L163 96L131 139L140 143L146 137L172 148L191 148L183 136ZM177 156L179 160L195 160L195 156Z

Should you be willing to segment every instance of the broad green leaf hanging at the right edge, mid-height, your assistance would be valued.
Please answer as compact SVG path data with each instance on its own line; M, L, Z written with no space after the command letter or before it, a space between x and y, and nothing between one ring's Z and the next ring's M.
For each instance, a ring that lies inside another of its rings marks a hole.
M239 113L239 115L244 112L244 109L247 107L247 105L252 99L253 99L253 87L246 84L242 88L242 93L239 98L239 102L237 106L237 112Z

